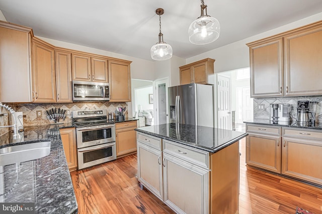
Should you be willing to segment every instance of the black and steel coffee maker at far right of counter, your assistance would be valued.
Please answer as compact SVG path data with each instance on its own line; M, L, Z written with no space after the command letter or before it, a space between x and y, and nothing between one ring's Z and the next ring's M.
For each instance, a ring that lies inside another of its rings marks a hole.
M297 101L297 119L296 123L302 126L308 126L315 123L316 103L305 101ZM310 118L311 116L311 118Z

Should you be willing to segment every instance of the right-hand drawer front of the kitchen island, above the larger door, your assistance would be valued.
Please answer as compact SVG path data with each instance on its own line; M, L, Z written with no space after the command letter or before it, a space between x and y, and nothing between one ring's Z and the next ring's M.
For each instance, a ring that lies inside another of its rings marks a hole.
M163 151L209 169L209 152L196 150L168 140L163 140Z

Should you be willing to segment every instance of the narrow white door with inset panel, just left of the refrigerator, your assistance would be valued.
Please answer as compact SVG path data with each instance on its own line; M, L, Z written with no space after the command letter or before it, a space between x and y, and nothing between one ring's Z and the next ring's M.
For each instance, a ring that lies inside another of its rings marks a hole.
M153 82L155 85L155 104L154 104L154 124L164 124L169 121L168 118L168 87L169 79L163 78Z

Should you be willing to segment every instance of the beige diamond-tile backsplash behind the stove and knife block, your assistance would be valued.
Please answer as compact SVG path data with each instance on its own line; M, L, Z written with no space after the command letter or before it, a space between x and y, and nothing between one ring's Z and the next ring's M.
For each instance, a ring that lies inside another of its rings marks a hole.
M24 126L35 125L49 125L54 124L53 120L48 120L46 110L52 108L60 108L66 110L66 118L62 119L59 123L72 122L71 112L75 110L85 109L106 109L107 112L114 112L116 107L126 107L126 103L110 103L110 102L74 102L74 103L8 103L15 111L23 113ZM37 115L37 112L41 112L41 115ZM69 113L69 114L67 114ZM127 117L127 113L126 113ZM0 124L2 124L0 117ZM0 133L1 135L1 133Z

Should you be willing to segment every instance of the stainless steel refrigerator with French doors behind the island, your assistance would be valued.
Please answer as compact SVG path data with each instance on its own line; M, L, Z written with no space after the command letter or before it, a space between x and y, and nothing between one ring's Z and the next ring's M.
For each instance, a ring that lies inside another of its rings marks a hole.
M187 84L169 87L170 123L213 127L213 86Z

